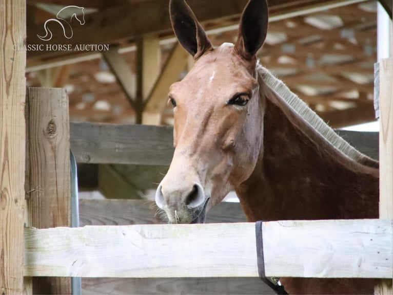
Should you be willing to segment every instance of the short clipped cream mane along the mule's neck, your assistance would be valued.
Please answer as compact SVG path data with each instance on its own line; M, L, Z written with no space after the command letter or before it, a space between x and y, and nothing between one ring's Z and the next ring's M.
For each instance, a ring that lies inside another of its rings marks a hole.
M337 135L332 128L326 124L307 104L294 94L280 79L274 77L272 73L261 64L257 65L258 74L265 83L274 90L287 104L298 113L307 123L309 123L318 133L326 138L336 149L345 156L365 164L369 167L378 168L378 162L370 159L357 151L342 137Z

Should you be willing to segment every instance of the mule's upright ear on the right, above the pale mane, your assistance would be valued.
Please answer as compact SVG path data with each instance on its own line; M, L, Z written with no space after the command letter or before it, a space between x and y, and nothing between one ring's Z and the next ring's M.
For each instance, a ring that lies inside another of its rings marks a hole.
M243 58L252 58L265 41L268 14L266 0L249 0L244 8L235 44L235 49Z

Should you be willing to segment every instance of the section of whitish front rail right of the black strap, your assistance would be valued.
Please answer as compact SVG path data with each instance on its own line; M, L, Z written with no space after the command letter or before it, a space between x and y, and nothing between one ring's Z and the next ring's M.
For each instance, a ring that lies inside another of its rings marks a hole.
M267 276L391 278L391 220L263 223Z

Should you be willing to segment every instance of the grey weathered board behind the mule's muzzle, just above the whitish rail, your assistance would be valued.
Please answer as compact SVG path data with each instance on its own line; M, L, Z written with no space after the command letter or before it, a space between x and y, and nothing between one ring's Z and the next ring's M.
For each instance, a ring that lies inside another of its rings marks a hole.
M81 226L162 224L157 209L154 201L147 200L79 200ZM207 213L206 223L234 222L246 222L239 203L222 202Z

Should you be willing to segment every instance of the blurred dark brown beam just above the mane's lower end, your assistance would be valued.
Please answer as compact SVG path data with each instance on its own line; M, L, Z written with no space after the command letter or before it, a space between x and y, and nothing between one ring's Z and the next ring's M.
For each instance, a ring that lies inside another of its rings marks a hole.
M375 120L374 104L372 101L362 103L358 107L333 110L331 112L319 112L317 114L332 128L367 123Z

